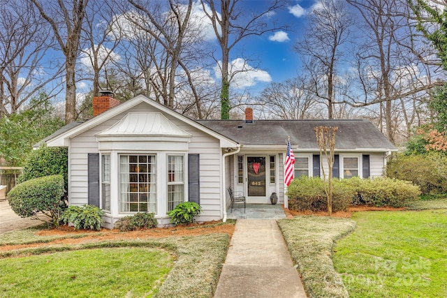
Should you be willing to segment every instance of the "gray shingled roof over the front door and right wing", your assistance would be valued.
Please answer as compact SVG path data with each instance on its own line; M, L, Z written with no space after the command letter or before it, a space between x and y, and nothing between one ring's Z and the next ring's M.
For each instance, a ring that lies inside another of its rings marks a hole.
M291 144L298 149L317 149L314 127L338 126L336 149L383 149L396 147L367 120L200 120L198 123L244 145Z

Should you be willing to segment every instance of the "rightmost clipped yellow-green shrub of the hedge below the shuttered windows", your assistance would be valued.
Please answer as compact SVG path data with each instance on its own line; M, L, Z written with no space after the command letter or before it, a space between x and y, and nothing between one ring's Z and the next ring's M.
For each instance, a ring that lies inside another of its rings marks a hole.
M356 190L353 204L368 206L404 207L408 202L418 199L420 190L410 181L389 178L346 179L346 184Z

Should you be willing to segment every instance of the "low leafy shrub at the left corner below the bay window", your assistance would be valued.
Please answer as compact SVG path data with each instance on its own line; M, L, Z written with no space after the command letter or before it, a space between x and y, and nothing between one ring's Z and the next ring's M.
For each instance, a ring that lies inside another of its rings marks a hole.
M73 223L76 230L101 230L104 211L94 205L69 206L61 216L66 225Z

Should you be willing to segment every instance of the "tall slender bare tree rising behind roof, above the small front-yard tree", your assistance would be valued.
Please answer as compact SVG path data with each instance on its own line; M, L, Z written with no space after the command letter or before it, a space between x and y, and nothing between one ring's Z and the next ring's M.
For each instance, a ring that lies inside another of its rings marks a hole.
M353 24L353 16L344 2L323 0L309 15L304 40L295 44L295 50L303 55L305 68L311 74L312 90L328 106L329 119L334 118L337 64Z

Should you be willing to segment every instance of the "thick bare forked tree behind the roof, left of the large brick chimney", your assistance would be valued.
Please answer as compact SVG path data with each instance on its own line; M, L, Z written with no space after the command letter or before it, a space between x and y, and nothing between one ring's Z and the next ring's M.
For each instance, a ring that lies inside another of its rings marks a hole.
M80 51L80 36L85 23L89 0L44 1L29 0L44 20L50 24L59 47L65 57L65 122L76 117L76 73L75 66Z

